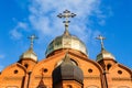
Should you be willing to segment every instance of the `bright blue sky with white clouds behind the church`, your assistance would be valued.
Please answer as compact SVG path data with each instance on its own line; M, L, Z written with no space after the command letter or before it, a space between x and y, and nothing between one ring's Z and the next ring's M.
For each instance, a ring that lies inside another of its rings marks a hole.
M132 0L0 0L0 70L19 61L31 34L38 36L34 52L45 58L48 43L64 32L63 20L56 15L68 9L77 16L70 19L69 32L87 46L96 59L103 35L105 47L118 63L132 68Z

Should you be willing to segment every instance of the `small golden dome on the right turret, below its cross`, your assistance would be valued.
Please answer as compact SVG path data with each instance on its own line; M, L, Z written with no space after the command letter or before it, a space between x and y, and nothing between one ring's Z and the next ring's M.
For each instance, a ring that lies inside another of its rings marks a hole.
M107 52L105 48L101 50L101 53L99 55L97 55L97 62L101 61L101 59L116 59L114 56Z

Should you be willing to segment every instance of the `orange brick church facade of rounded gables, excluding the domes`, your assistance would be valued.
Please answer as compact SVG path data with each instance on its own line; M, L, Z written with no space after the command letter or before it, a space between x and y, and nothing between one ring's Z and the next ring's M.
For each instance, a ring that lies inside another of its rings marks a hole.
M0 74L0 88L44 88L41 85L54 88L52 73L66 52L59 50L40 62L26 58L6 67ZM84 84L62 80L57 88L132 88L131 69L116 61L106 58L96 62L75 50L68 50L68 55L82 70Z

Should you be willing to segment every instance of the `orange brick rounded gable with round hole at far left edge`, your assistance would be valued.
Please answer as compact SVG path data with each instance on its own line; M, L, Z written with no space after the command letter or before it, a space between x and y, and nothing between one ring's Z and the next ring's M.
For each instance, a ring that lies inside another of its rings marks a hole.
M23 88L26 69L21 64L15 63L3 69L1 74L0 88L18 87ZM15 84L16 82L16 84Z

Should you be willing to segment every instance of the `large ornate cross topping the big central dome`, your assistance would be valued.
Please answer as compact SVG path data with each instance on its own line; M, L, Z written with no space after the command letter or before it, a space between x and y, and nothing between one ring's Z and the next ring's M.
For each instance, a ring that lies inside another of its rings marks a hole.
M76 14L75 13L70 13L70 11L68 11L68 10L65 10L63 13L59 13L58 15L57 15L58 18L64 18L65 19L65 21L64 21L64 23L65 23L65 34L68 34L68 24L69 24L69 18L74 18L74 16L76 16Z

